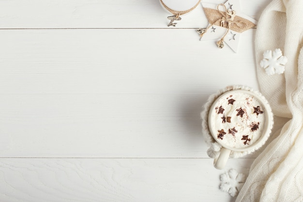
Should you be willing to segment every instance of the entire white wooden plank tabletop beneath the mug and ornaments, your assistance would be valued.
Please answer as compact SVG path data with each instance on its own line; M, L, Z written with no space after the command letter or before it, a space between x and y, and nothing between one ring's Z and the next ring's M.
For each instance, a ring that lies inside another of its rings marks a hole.
M235 200L220 174L259 153L214 169L199 114L227 85L258 89L256 29L236 54L199 41L201 5L167 16L158 0L0 1L0 202Z

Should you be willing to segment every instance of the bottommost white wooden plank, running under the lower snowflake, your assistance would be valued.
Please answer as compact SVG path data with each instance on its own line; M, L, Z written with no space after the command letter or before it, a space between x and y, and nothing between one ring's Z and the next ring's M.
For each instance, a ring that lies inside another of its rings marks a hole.
M0 159L1 202L234 202L210 159ZM231 167L230 167L231 166Z

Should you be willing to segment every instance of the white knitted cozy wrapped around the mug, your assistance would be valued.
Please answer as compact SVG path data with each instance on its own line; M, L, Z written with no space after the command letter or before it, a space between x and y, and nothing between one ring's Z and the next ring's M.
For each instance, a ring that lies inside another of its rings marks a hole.
M202 135L204 137L204 140L206 141L206 143L209 146L209 149L207 150L207 154L208 156L210 156L211 158L217 158L220 155L220 150L221 150L221 145L218 144L212 137L211 131L209 129L208 126L208 114L209 114L209 110L212 106L212 103L223 93L226 93L227 91L231 91L231 90L237 90L237 89L242 89L242 90L246 90L246 91L250 91L253 92L255 94L257 94L260 98L262 98L265 102L266 105L269 105L268 102L266 101L265 97L259 93L258 91L254 91L253 89L247 87L247 86L241 86L241 85L234 85L234 86L227 86L224 89L219 90L217 93L212 94L211 96L209 96L208 101L205 103L205 105L203 106L203 110L201 112L201 119L202 119ZM270 107L268 107L268 109L270 109ZM269 111L269 113L272 113L271 111ZM269 120L270 122L270 131L273 127L273 114L271 114L272 120ZM266 136L270 135L270 132L268 134L265 134ZM264 139L265 141L267 140L267 138ZM247 155L250 154L252 152L254 152L255 150L258 150L264 143L262 142L261 144L258 145L258 147L254 147L250 150L244 151L244 152L236 152L236 151L231 151L230 152L230 157L232 158L239 158L243 155Z

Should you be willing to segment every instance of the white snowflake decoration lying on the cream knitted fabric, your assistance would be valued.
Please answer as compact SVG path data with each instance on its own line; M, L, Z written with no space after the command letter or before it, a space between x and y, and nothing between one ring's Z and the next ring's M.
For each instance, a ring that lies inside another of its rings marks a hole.
M284 65L288 61L287 57L282 55L280 48L272 50L266 50L263 53L263 60L260 62L260 66L265 69L266 74L283 74L285 71Z

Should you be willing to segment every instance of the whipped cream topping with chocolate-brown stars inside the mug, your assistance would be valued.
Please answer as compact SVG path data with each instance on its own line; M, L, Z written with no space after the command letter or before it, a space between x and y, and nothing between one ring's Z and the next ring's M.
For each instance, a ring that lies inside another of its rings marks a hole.
M209 126L214 138L223 146L248 147L263 135L265 111L253 95L230 91L213 105L209 112Z

